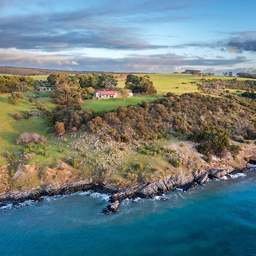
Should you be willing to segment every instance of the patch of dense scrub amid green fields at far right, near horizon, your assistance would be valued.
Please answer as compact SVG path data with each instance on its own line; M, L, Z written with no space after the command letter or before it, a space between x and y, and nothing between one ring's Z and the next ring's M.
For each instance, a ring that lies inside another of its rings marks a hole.
M223 90L228 90L228 89L255 90L256 81L253 81L253 80L240 81L237 79L232 79L232 80L202 79L200 84L198 84L198 86L199 86L199 89L204 93L220 94L223 92Z

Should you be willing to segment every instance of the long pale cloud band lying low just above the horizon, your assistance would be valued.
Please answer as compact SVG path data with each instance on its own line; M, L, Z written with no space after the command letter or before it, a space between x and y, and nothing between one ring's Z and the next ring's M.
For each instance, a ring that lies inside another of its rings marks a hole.
M72 68L77 71L174 72L177 67L205 69L216 66L232 67L249 62L250 60L243 57L207 59L200 56L176 55L175 53L130 55L112 59L81 55L43 55L13 49L0 49L0 65L52 69Z

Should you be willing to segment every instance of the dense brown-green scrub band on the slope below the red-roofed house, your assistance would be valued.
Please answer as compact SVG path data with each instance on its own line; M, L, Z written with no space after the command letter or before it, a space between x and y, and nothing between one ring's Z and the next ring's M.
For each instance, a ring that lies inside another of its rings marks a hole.
M93 112L62 109L53 113L51 119L53 123L63 122L67 130L82 127L106 141L154 141L173 134L202 146L210 142L210 149L204 150L207 155L221 155L228 150L231 135L256 138L255 105L238 96L169 93L151 104L144 101L138 107L119 107L117 112L98 116Z

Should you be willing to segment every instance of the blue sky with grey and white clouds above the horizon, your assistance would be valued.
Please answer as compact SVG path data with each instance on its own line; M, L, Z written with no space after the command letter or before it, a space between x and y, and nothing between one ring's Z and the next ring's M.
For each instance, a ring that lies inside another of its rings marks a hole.
M256 73L255 0L0 0L0 65Z

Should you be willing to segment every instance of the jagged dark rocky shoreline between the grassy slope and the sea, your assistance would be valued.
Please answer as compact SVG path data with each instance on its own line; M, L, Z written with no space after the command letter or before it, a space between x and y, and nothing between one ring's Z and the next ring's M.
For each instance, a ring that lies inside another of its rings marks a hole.
M4 211L19 208L26 205L26 201L41 202L44 196L69 195L79 191L93 190L100 193L110 193L110 204L102 210L102 213L109 214L118 211L119 203L125 199L136 199L137 197L148 199L155 196L163 196L164 193L174 191L177 188L183 191L196 189L204 184L208 179L220 179L224 176L242 173L250 170L256 170L256 160L251 159L245 168L234 169L232 167L213 169L205 171L203 174L183 174L168 176L163 180L157 180L154 183L134 183L121 189L110 187L108 184L95 183L92 180L82 180L79 182L48 185L46 188L36 189L28 192L5 192L0 195L0 208Z

